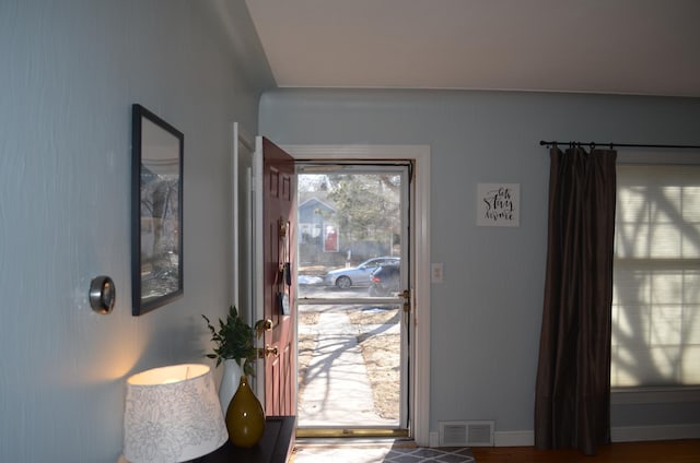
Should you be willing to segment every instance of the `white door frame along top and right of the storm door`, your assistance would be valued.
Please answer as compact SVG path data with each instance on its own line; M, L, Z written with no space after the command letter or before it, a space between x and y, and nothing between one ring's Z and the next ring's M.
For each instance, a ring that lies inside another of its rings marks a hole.
M371 161L409 159L415 163L411 209L411 288L413 336L411 356L411 436L430 444L430 146L428 145L280 145L299 159Z

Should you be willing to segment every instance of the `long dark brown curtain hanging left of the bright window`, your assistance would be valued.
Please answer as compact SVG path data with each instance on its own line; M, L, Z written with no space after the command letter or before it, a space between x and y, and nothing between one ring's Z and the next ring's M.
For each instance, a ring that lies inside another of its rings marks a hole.
M535 444L595 454L610 441L617 153L550 151L547 276Z

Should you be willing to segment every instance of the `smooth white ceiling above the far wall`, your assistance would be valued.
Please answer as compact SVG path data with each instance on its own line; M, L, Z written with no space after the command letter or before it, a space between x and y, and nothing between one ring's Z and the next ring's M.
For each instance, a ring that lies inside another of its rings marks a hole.
M700 97L700 0L246 0L280 87Z

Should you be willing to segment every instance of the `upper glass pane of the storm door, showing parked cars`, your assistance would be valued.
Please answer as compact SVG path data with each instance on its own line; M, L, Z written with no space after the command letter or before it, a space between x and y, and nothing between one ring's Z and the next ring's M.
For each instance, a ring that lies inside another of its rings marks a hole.
M299 175L299 298L399 293L401 182L400 170Z

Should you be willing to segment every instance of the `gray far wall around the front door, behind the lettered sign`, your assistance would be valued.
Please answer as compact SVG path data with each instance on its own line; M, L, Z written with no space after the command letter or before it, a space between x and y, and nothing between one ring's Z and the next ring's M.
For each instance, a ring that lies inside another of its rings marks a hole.
M444 263L444 283L432 286L430 427L494 419L508 432L533 430L549 177L538 141L698 144L698 120L700 99L276 90L261 98L259 127L279 144L431 146L432 261ZM518 228L476 226L479 182L521 185ZM657 426L698 416L695 403L617 406L612 418Z

